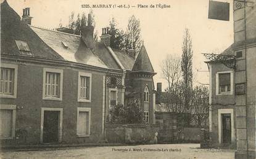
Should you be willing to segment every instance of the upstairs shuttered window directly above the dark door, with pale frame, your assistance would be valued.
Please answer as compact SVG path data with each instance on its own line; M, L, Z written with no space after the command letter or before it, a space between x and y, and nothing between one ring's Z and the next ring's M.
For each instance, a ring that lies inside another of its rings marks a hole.
M44 68L43 99L62 100L63 70Z

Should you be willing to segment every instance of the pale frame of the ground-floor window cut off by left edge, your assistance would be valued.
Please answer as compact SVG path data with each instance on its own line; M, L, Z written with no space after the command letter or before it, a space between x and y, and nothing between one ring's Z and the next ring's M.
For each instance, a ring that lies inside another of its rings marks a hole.
M14 139L15 138L15 123L16 123L16 105L0 104L0 109L12 110L12 134L9 137L1 136L0 139Z

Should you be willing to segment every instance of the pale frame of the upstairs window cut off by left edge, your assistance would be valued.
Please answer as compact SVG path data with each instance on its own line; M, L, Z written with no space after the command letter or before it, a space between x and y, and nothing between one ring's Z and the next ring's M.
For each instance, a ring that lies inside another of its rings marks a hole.
M6 95L6 94L1 93L0 98L17 98L18 65L17 64L10 64L10 63L1 63L1 68L14 69L14 94L13 95Z

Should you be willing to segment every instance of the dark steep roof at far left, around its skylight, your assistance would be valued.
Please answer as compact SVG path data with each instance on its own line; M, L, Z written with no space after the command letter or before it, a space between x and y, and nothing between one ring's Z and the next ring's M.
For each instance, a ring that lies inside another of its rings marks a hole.
M28 25L23 24L20 16L4 1L1 4L1 55L28 56L20 54L15 40L27 42L32 56L63 60L60 55L41 41Z

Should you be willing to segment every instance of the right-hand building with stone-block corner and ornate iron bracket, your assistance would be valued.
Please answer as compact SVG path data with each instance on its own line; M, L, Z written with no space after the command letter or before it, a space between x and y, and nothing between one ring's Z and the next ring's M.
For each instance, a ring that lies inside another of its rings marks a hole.
M208 55L209 127L214 144L234 145L236 158L255 158L255 1L234 1L234 43Z

